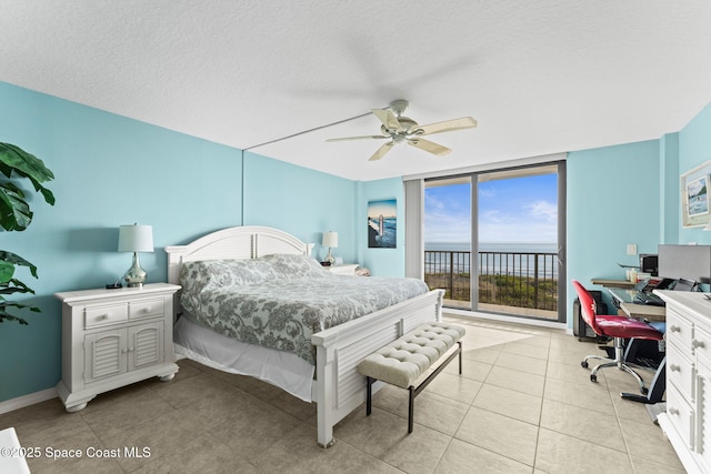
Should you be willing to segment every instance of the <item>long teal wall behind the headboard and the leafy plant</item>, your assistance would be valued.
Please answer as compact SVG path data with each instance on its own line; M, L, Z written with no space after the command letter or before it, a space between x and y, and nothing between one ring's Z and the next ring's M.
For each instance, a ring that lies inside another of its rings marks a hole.
M39 280L18 276L36 291L24 302L42 310L24 314L29 326L0 326L0 402L57 384L61 307L53 293L101 288L126 272L121 224L153 226L156 252L141 254L149 282L167 279L166 245L242 224L319 244L321 232L336 230L334 253L358 256L356 182L2 82L0 104L0 141L42 159L57 198L50 206L32 195L28 230L0 231L0 249L38 266ZM326 253L320 245L314 252Z

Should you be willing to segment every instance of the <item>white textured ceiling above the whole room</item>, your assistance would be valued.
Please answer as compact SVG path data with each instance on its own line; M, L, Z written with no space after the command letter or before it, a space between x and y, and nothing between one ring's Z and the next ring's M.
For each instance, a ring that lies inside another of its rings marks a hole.
M708 0L0 0L0 81L354 180L658 139L711 102ZM382 141L407 99L443 158ZM169 160L170 157L157 159Z

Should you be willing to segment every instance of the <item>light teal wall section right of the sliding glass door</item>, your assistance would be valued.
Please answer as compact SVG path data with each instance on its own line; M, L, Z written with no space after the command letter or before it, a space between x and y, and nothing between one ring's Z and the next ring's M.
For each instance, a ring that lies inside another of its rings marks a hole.
M618 263L638 263L627 255L628 243L640 253L657 253L658 141L571 152L567 170L569 279L590 289L592 278L623 280ZM568 289L572 307L575 296Z

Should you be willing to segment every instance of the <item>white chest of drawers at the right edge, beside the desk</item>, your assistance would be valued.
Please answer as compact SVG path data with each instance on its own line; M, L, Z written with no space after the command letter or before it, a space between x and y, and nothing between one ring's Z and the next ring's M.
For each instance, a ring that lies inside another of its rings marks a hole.
M659 425L690 473L711 472L711 301L654 291L667 302L667 412Z

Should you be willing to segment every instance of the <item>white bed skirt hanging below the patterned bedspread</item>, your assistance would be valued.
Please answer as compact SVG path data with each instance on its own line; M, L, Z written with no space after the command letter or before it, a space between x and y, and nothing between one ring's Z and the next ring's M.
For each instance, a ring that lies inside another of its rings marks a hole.
M236 341L186 317L178 319L173 341L176 354L219 371L253 376L304 402L312 401L316 367L296 354Z

